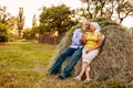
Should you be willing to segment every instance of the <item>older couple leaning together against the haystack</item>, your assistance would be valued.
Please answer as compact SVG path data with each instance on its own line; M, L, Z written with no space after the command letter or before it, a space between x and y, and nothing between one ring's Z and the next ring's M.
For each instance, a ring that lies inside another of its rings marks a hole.
M82 77L85 74L85 80L90 81L90 63L99 54L103 40L104 35L100 32L100 25L96 22L84 21L82 28L74 31L72 44L65 48L53 63L49 70L49 75L59 73L64 61L71 56L71 59L62 70L62 74L59 75L60 79L65 79L70 76L72 68L82 56L81 72L74 79L82 80Z

